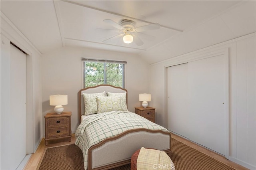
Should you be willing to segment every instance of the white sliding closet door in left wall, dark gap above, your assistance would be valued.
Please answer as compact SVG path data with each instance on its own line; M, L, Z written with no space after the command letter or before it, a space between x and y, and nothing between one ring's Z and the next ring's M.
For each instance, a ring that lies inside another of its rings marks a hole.
M26 156L26 54L10 45L10 164L17 168Z

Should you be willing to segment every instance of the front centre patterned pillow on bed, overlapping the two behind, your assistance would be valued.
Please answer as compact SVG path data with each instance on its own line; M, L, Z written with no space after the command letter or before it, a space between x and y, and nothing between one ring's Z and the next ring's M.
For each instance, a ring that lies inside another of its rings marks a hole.
M118 96L97 96L97 113L120 111L121 98Z

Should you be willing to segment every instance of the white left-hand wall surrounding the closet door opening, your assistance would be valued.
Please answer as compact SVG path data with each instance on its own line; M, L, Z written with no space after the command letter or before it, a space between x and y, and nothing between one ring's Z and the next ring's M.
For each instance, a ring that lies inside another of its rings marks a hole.
M42 139L42 86L41 53L26 37L1 13L1 169L8 169L12 156L8 157L6 148L13 147L17 141L8 133L12 124L10 117L10 41L25 51L27 55L27 153L32 153ZM24 134L26 135L26 134Z

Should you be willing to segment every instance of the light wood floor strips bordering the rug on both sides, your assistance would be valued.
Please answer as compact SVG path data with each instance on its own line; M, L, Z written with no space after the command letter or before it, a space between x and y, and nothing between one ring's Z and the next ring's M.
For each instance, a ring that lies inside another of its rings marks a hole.
M240 166L234 162L231 162L230 160L227 160L226 158L224 158L223 156L221 156L219 154L216 154L208 149L198 146L197 144L194 144L193 142L190 142L189 140L181 138L175 134L172 134L172 138L174 138L174 139L176 139L176 140L178 140L196 150L199 150L200 152L203 152L204 154L211 156L212 158L219 160L220 162L227 164L236 170L248 170L247 168L244 168L243 166ZM67 145L67 144L74 144L74 143L75 143L75 135L74 134L72 134L71 142L68 142L68 138L60 139L60 140L50 140L50 141L48 141L47 146L45 146L45 142L44 142L44 138L43 138L42 141L40 142L36 152L34 154L32 154L32 156L28 160L28 163L26 164L24 170L36 170L36 168L41 160L41 157L44 153L44 150L46 148L50 148L50 147L54 147L54 146L62 146L62 145Z

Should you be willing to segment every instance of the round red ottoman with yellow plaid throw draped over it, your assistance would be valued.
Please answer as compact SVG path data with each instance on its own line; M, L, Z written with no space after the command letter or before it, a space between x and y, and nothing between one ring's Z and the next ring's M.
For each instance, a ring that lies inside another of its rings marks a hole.
M140 150L142 150L142 152L140 153ZM170 159L170 157L165 153L162 152L160 150L156 150L156 149L146 149L144 147L136 150L134 152L134 154L132 154L131 157L131 170L137 170L137 160L138 157L140 156L140 160L139 160L139 167L138 169L168 169L168 170L175 170L174 164L172 162L172 160ZM146 158L148 157L148 158ZM151 158L150 158L151 157ZM143 162L144 160L146 160L147 162ZM142 164L145 164L145 166L147 165L147 168L141 168Z

